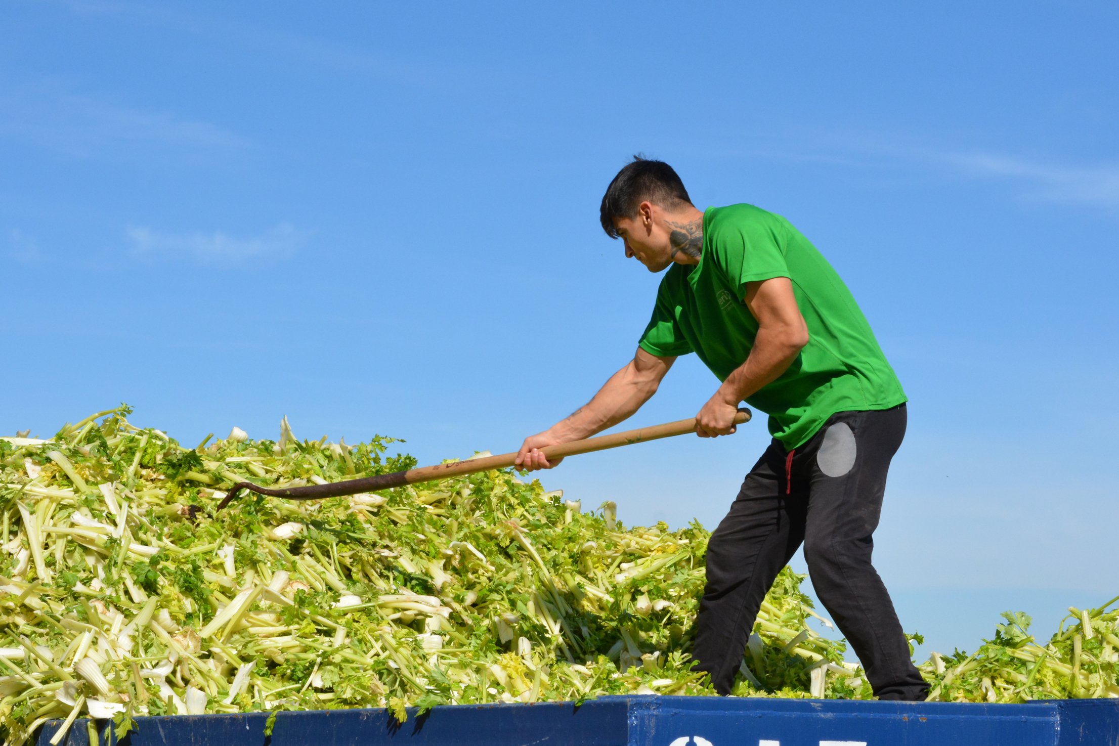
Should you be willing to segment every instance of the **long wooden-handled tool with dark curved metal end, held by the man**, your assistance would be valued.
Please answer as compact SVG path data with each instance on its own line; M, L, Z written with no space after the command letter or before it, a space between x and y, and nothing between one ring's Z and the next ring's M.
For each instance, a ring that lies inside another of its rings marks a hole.
M739 409L739 414L734 416L734 424L741 425L746 422L750 422L750 409ZM696 419L695 417L689 417L687 419L678 419L674 423L665 423L664 425L638 427L637 429L628 429L622 433L612 433L610 435L600 435L599 437L589 437L583 441L572 441L571 443L548 445L540 448L540 452L549 459L561 459L563 456L573 456L580 453L591 453L593 451L615 448L619 445L629 445L631 443L656 441L661 437L684 435L685 433L694 433L695 431ZM222 502L218 503L217 510L222 510L229 504L229 502L233 501L243 490L250 490L258 494L267 494L274 498L286 498L289 500L322 500L325 498L338 498L347 494L358 494L360 492L377 492L379 490L388 490L394 487L403 487L404 484L431 482L434 480L446 479L449 476L476 474L478 472L489 471L490 469L505 469L507 466L513 466L516 461L517 452L502 453L499 456L468 459L466 461L455 461L449 464L439 464L438 466L421 466L420 469L410 469L408 471L393 472L392 474L377 474L376 476L365 476L361 479L347 480L345 482L309 484L307 487L267 488L253 484L252 482L237 482L229 488L229 492L225 495L225 498L223 498Z

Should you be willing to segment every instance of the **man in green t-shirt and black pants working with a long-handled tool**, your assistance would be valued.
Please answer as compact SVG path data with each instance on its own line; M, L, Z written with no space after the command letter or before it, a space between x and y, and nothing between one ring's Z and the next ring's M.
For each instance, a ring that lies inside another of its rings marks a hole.
M722 380L696 433L734 432L740 403L769 415L773 441L707 545L693 657L731 692L762 598L803 544L820 602L880 699L921 700L928 684L871 564L890 460L905 434L905 393L843 280L784 218L752 205L696 209L667 163L640 157L602 198L602 227L626 256L667 270L633 359L589 404L525 440L539 451L615 425L645 404L680 355Z

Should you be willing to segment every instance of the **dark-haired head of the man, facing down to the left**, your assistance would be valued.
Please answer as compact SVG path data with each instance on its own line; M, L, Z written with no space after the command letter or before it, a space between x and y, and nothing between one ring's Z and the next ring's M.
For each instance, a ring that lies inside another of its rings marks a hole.
M606 235L621 238L626 256L636 256L650 272L674 261L690 263L678 246L674 251L671 237L680 233L681 221L694 223L697 215L702 219L673 167L641 155L634 155L606 187L599 213Z

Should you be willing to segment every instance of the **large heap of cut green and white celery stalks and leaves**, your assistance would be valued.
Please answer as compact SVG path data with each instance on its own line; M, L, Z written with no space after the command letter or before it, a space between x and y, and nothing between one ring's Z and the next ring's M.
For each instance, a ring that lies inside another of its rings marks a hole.
M698 525L626 529L490 471L294 502L299 485L408 469L391 438L229 437L182 447L125 407L54 437L0 438L0 735L48 719L713 693L688 650ZM869 698L841 642L809 630L782 572L736 693ZM978 653L933 655L934 697L1119 696L1117 612L1038 645L1010 615Z

